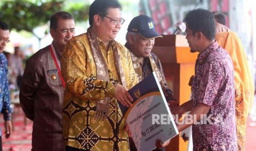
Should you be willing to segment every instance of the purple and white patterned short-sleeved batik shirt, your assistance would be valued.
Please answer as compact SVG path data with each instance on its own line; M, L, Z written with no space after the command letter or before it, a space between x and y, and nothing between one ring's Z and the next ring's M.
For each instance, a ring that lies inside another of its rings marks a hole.
M198 55L192 98L211 107L208 122L193 125L193 150L237 150L233 63L217 42Z

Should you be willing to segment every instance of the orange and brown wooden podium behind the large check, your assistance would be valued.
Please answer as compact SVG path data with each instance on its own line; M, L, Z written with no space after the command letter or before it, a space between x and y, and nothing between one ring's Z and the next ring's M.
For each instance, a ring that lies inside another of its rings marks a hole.
M195 60L198 53L190 53L190 48L184 35L162 35L155 39L152 53L161 61L168 88L179 104L188 101L191 88L188 85L191 75L194 75ZM179 134L180 135L180 134ZM186 151L188 142L177 135L172 138L166 151Z

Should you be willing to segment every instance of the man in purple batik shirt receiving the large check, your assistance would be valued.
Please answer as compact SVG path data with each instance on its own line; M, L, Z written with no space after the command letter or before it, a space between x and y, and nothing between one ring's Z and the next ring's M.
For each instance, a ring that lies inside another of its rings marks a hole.
M235 86L233 63L225 49L215 41L215 21L210 11L196 9L186 18L190 51L199 52L192 83L192 100L173 114L189 114L190 122L176 124L178 131L192 126L193 150L237 150L235 119ZM202 118L206 115L206 118ZM156 142L157 148L168 142Z

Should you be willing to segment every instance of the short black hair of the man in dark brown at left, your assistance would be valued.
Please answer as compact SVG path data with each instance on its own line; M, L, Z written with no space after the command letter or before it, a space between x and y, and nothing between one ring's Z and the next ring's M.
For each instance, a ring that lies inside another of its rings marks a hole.
M58 11L57 13L55 13L51 16L50 29L56 30L56 28L58 27L59 19L64 19L64 20L73 19L74 20L73 16L70 13L68 13L67 11Z

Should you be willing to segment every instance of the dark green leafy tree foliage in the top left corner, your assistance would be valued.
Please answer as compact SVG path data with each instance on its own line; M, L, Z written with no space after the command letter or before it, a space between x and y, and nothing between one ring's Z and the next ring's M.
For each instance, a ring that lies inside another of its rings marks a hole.
M4 1L0 20L7 22L10 29L32 32L35 27L46 24L51 15L62 7L63 2L57 1L37 4L19 0Z

